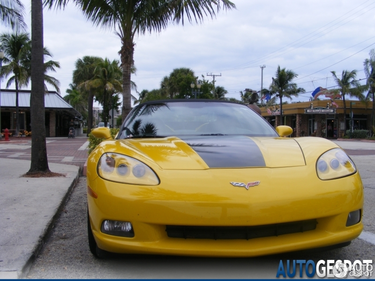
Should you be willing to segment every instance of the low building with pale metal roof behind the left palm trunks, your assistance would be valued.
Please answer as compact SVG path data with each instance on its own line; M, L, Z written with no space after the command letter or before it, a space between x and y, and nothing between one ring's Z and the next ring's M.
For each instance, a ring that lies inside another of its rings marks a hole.
M1 132L8 129L14 132L16 128L16 93L15 90L1 90ZM47 137L68 136L69 122L74 121L75 134L83 133L82 116L57 92L45 94L45 128ZM30 91L20 90L18 93L20 131L32 131L30 116Z

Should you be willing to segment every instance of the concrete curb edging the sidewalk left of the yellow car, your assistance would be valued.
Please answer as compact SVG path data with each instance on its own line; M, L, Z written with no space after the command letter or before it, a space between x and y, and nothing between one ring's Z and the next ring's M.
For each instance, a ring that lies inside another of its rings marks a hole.
M74 173L74 172L70 172L70 173ZM52 230L58 216L62 212L66 202L68 201L68 198L69 198L70 194L72 193L72 190L75 187L75 184L77 183L79 176L80 176L80 173L77 172L77 174L75 175L75 177L74 177L71 185L69 186L65 196L63 197L62 201L60 202L60 206L58 206L58 208L56 210L56 213L53 215L51 220L47 223L42 237L40 237L39 242L37 243L37 245L35 245L35 247L33 249L33 253L31 254L30 258L27 260L26 264L23 266L22 270L20 272L17 272L16 278L19 278L19 279L26 278L26 275L27 275L28 271L30 270L31 264L34 262L35 258L38 256L40 250L42 249L44 243L49 238L51 230ZM12 278L12 277L9 276L8 278ZM15 276L13 278L15 278Z

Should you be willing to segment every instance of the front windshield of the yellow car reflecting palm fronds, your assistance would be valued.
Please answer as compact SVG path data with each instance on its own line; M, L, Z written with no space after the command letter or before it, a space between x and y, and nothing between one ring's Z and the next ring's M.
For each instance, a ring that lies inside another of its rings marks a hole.
M136 106L118 138L178 135L278 136L266 120L245 105L189 101Z

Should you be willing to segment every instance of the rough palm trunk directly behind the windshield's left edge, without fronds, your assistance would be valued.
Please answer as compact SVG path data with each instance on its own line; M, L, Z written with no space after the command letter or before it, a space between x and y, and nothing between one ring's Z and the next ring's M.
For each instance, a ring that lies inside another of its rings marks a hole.
M131 95L131 72L130 68L134 64L134 43L129 37L125 37L122 40L122 47L120 50L121 55L121 67L122 67L122 121L124 122L126 116L132 110L132 95Z

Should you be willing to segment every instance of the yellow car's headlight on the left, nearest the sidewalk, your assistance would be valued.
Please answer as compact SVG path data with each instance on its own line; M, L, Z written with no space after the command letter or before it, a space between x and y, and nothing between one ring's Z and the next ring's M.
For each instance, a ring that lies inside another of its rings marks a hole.
M107 152L98 163L98 175L108 181L126 184L158 185L159 178L146 164L118 153Z

